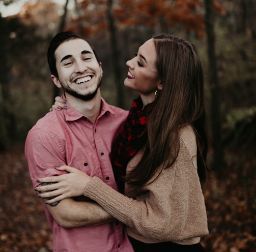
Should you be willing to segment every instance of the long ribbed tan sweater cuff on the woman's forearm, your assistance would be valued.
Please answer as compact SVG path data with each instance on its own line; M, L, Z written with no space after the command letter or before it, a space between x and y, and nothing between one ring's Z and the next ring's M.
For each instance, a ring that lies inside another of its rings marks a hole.
M119 219L122 223L129 223L129 209L132 199L117 192L100 178L93 177L87 184L83 195L96 201L108 213Z

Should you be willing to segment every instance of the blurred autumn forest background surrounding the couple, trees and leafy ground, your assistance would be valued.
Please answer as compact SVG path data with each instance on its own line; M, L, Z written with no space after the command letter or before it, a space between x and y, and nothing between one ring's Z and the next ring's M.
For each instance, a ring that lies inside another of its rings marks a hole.
M4 6L21 10L5 15ZM46 51L61 30L90 39L103 65L103 98L129 109L125 62L152 35L196 45L205 68L209 173L206 251L256 247L255 0L0 0L0 251L52 251L52 235L30 181L27 132L59 94Z

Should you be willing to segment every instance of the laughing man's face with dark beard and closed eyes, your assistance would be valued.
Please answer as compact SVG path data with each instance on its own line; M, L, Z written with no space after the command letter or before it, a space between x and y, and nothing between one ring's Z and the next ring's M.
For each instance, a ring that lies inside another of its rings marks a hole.
M101 82L101 63L91 46L82 39L68 40L55 51L59 78L51 76L56 86L62 87L71 96L91 100Z

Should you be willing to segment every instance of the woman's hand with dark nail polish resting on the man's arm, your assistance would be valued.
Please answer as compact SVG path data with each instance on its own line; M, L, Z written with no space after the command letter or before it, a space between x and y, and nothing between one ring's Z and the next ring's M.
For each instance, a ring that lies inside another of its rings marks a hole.
M35 188L35 191L42 192L39 193L39 198L55 197L45 202L46 204L52 204L66 198L83 195L86 185L91 180L91 177L89 175L70 166L56 166L55 168L61 171L67 171L69 173L60 176L37 179L37 181L41 183L57 182L37 186Z

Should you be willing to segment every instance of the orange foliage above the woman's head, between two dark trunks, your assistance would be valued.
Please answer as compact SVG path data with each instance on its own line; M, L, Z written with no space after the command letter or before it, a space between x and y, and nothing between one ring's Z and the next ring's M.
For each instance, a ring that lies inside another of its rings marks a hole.
M195 30L203 35L204 17L200 0L120 0L115 9L116 19L120 24L147 26L163 25L172 27L183 24L186 30Z

